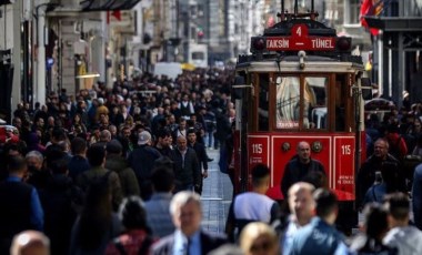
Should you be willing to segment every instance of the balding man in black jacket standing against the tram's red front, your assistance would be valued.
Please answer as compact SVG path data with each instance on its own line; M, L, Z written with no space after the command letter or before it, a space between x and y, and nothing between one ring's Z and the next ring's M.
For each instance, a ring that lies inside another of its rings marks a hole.
M303 181L311 172L316 171L325 175L325 170L321 162L311 159L311 146L308 142L299 142L297 152L298 155L285 165L284 174L281 178L283 197L288 197L288 191L291 185Z

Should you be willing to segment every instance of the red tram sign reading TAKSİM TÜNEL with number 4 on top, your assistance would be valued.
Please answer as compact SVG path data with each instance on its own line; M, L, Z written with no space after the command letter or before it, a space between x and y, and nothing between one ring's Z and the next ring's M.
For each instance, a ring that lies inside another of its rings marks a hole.
M334 51L334 37L312 37L308 34L308 27L297 24L291 29L291 37L268 37L267 50L269 51Z

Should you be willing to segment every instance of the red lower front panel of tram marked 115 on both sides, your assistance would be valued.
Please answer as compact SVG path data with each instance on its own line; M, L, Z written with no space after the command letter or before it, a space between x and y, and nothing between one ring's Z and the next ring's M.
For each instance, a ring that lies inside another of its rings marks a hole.
M326 183L335 191L340 201L354 201L354 143L353 134L269 134L248 135L248 183L251 170L259 163L271 167L271 183L268 195L284 200L281 194L281 178L287 163L297 155L297 145L307 141L311 145L312 159L319 160L326 173ZM250 186L249 186L250 188Z

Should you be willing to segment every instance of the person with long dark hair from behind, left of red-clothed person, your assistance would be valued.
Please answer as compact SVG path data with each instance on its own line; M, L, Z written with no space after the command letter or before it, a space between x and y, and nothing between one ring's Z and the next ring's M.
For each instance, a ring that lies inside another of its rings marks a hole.
M120 221L112 213L108 175L88 187L84 207L71 233L71 255L103 255L108 243L121 233Z

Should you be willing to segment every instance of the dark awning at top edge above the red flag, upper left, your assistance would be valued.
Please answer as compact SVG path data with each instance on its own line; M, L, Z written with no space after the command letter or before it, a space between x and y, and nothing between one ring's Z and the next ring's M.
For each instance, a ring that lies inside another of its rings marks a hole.
M80 4L82 11L118 11L130 10L141 0L84 0Z

